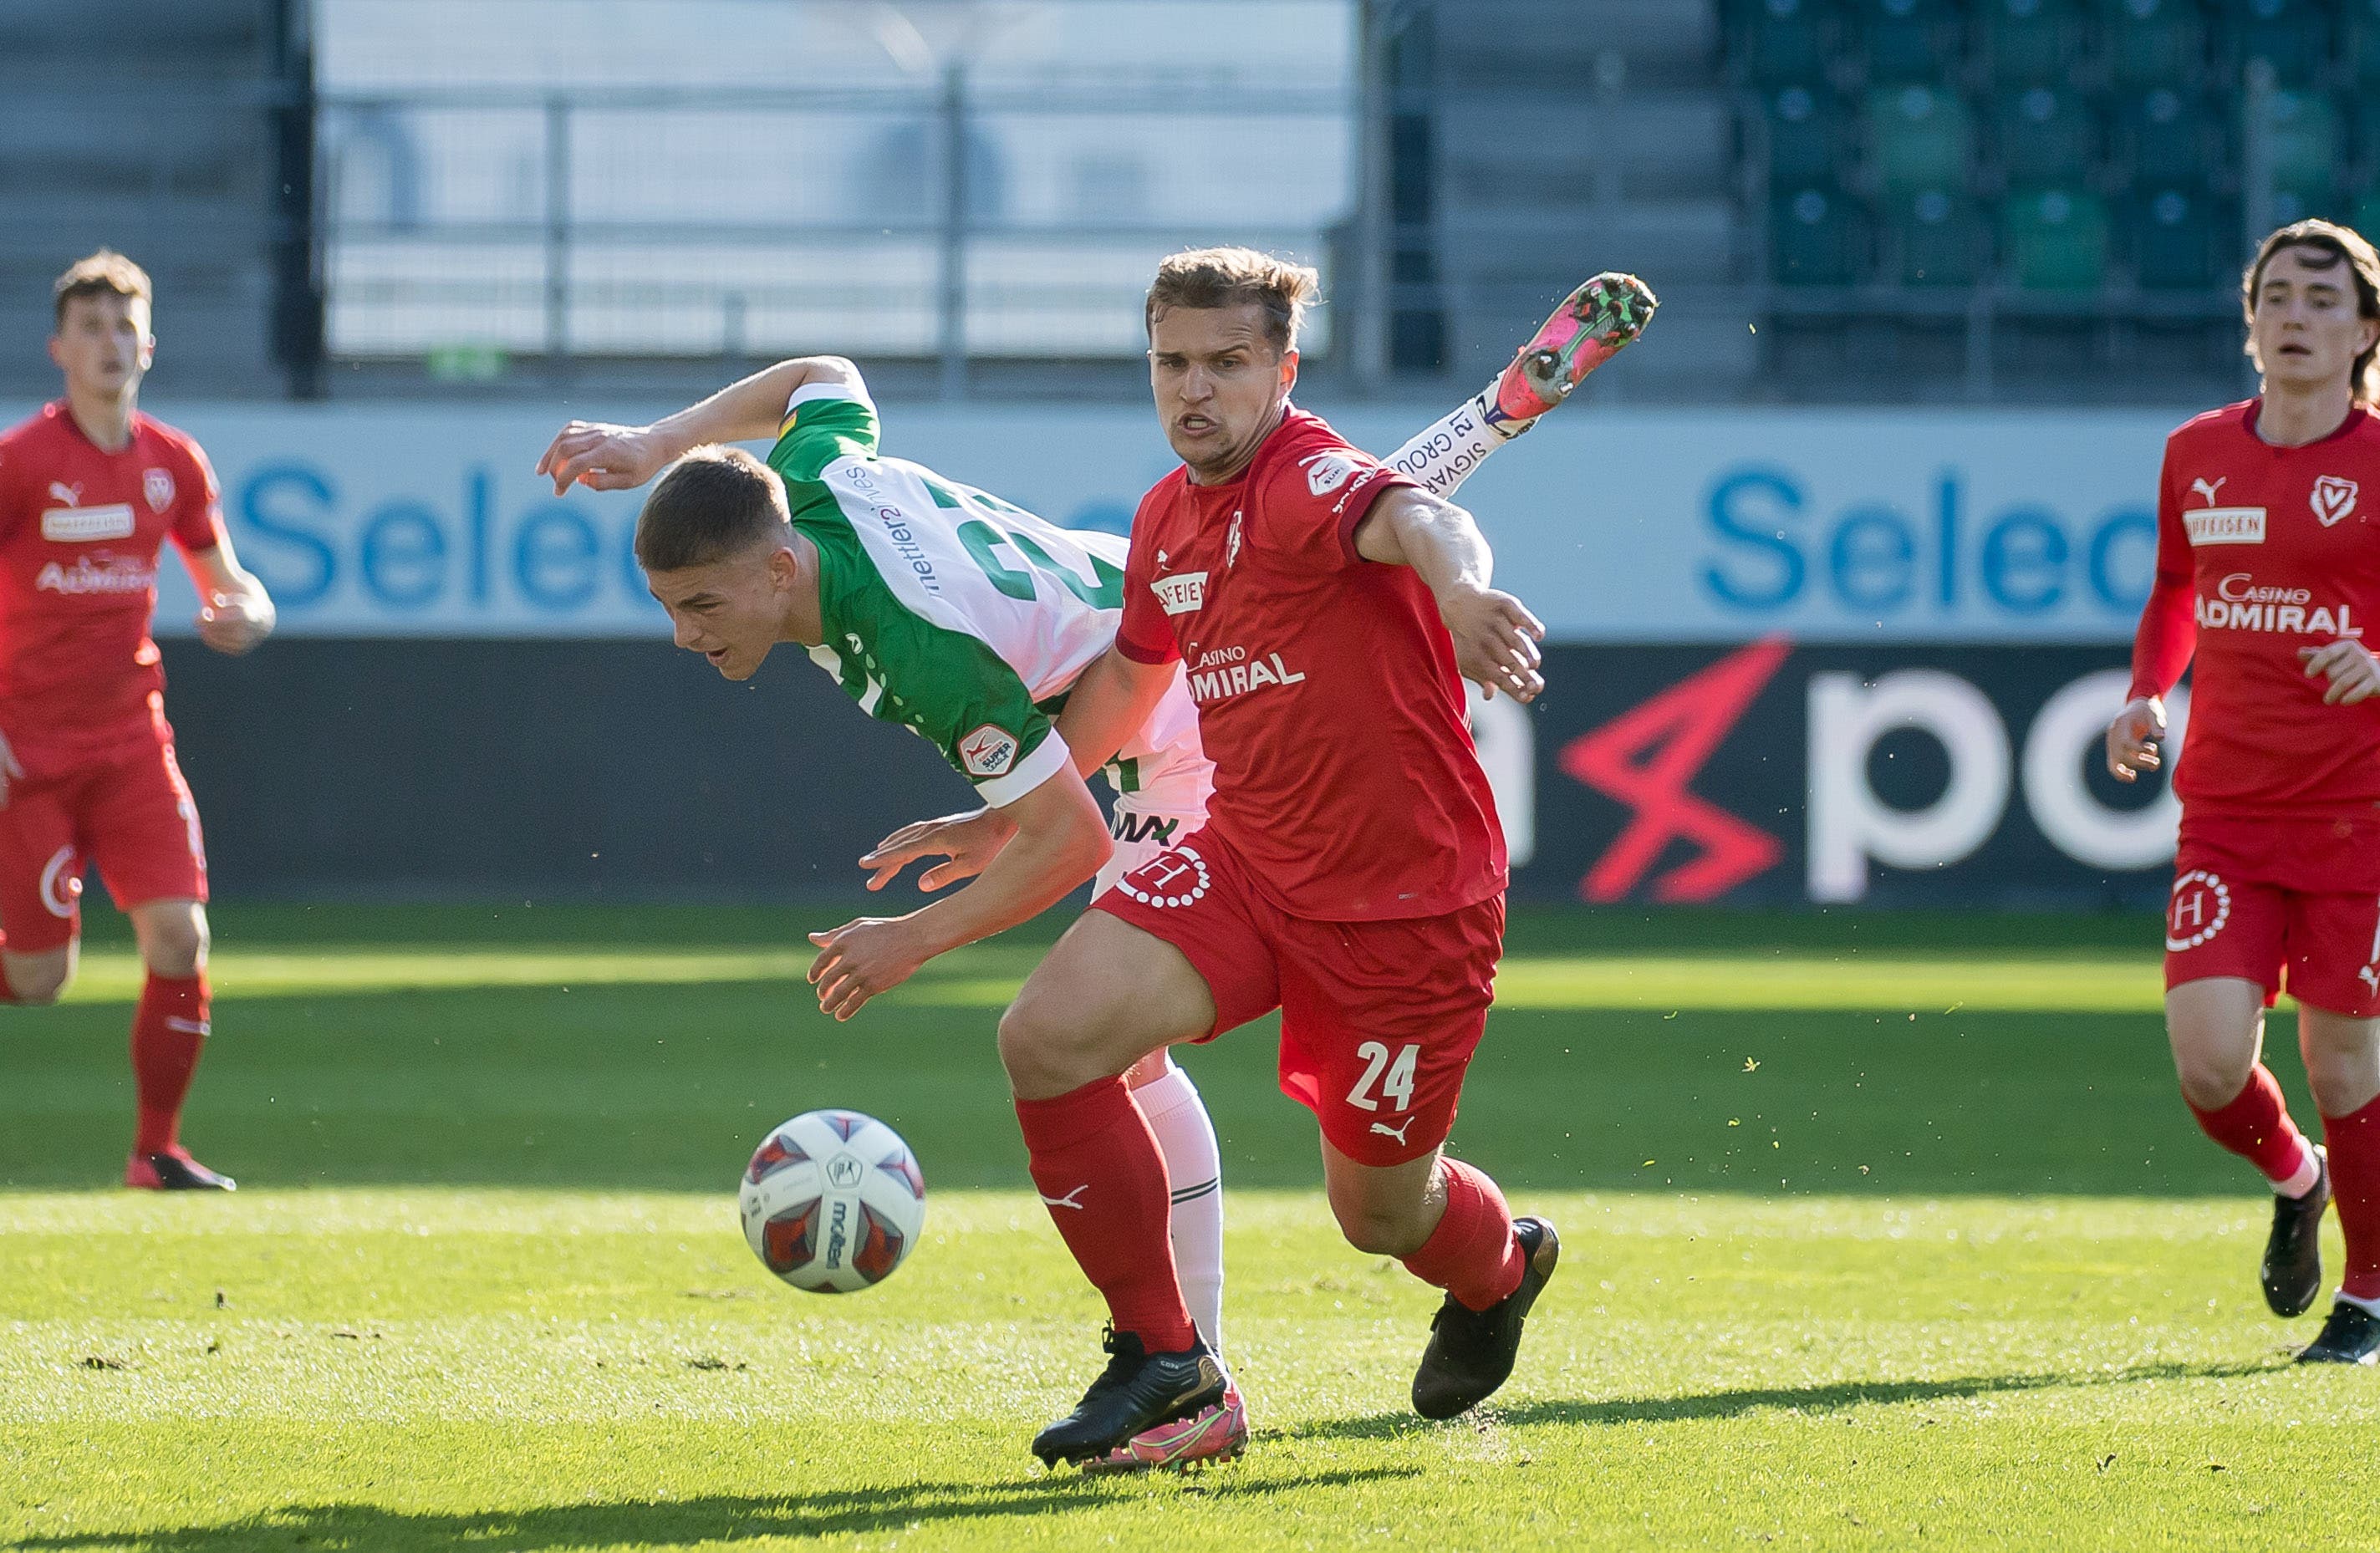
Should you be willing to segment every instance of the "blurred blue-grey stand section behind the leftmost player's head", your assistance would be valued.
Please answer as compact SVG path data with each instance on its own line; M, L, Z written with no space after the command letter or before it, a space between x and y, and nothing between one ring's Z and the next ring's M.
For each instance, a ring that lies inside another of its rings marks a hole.
M100 245L157 283L159 388L317 388L305 10L0 5L0 392L55 390L50 283Z

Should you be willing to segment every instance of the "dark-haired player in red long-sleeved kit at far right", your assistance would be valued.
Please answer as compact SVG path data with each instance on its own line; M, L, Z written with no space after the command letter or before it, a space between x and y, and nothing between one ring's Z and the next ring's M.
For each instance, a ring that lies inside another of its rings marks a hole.
M2347 1277L2306 1363L2380 1356L2380 254L2344 226L2263 240L2244 285L2263 392L2166 440L2156 583L2130 704L2106 733L2121 780L2159 763L2163 697L2197 659L2173 790L2166 1032L2211 1139L2273 1182L2263 1296L2323 1289L2335 1199ZM2309 1144L2261 1063L2263 1011L2297 999L2323 1113Z

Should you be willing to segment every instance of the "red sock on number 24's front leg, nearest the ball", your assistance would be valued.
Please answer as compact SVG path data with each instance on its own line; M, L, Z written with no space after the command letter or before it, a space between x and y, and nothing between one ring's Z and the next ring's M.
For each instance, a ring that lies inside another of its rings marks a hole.
M1197 1341L1173 1272L1166 1161L1123 1080L1016 1101L1016 1120L1033 1184L1073 1260L1107 1296L1116 1332L1130 1332L1150 1353Z

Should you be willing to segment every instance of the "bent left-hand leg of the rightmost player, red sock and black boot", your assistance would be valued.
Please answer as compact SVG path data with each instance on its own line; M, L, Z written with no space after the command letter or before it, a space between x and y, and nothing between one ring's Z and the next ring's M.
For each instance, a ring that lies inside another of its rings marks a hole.
M2330 1172L2323 1151L2290 1120L2280 1084L2261 1061L2263 985L2209 975L2171 987L2166 1039L2199 1127L2271 1182L2273 1230L2259 1282L2273 1315L2304 1315L2323 1291L2320 1230Z

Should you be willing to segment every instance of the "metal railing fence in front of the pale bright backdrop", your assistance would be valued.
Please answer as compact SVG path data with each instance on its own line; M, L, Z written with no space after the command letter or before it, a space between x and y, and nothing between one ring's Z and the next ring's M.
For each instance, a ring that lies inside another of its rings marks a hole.
M328 352L512 357L1142 350L1157 257L1309 264L1354 207L1354 93L1014 81L402 90L321 100ZM1328 345L1328 319L1309 347Z

